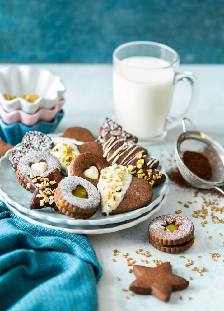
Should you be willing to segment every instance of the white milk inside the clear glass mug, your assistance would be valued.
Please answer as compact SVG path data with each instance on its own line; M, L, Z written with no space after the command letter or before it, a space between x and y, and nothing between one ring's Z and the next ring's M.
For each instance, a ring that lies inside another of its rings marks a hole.
M134 56L114 68L117 122L139 139L164 132L173 94L174 71L169 65L160 58Z

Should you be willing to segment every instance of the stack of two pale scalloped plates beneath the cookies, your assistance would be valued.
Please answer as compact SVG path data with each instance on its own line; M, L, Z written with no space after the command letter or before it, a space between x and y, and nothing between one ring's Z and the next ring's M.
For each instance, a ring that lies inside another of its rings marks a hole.
M100 207L94 216L87 220L77 220L61 215L50 208L30 210L32 193L21 188L8 161L9 153L0 159L0 195L9 210L30 223L63 230L75 234L101 234L115 232L137 225L150 218L166 202L168 177L166 182L153 188L152 201L135 211L118 215L102 216ZM164 168L159 167L164 173Z

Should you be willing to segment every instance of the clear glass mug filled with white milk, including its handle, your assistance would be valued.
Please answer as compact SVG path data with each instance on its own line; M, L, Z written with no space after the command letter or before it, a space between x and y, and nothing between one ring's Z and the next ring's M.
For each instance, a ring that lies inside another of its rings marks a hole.
M116 121L145 142L160 141L194 106L198 82L191 72L178 72L180 57L170 47L149 41L120 45L113 52ZM191 99L178 117L170 116L174 86L189 81Z

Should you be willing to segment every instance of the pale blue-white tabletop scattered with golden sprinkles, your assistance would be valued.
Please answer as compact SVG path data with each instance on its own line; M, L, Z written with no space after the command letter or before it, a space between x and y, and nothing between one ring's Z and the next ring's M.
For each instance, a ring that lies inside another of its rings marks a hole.
M95 136L105 117L115 119L112 95L112 66L110 64L39 64L60 75L66 86L64 118L56 132L63 132L72 126L88 128ZM1 64L0 67L5 66ZM224 144L224 65L181 65L180 71L191 71L198 78L200 94L198 104L187 117L189 117L198 130L211 135ZM189 87L180 83L174 95L173 114L180 111L181 105L189 97ZM182 126L171 130L166 139L156 145L148 146L149 152L156 156L161 164L169 171L175 166L174 148L175 140L182 132ZM224 207L224 198L212 194L198 194L187 191L169 182L169 193L161 209L149 220L134 227L114 233L89 235L97 258L103 268L103 275L97 285L99 311L114 310L224 310L224 224L212 223L211 204L208 205L208 222L204 227L202 220L192 216L194 210L199 210L204 202L217 200L217 207ZM183 202L183 204L178 203ZM189 208L184 203L193 202ZM195 226L195 242L191 248L179 254L167 254L156 250L148 242L147 227L156 216L175 213L182 210L184 216L189 217ZM224 220L222 213L214 215ZM221 236L222 234L222 236ZM212 236L212 239L208 239ZM136 250L143 249L151 254L144 258L137 255ZM113 250L120 253L115 257ZM170 301L165 303L151 295L131 296L129 285L135 280L133 273L128 273L126 258L122 254L136 260L136 264L155 267L154 260L170 261L173 273L190 280L189 287L182 291L172 293ZM210 253L218 253L220 257L211 260ZM179 256L184 256L180 258ZM198 256L201 256L198 258ZM113 262L112 259L116 261ZM148 263L141 262L147 259ZM192 260L191 266L185 267L187 260ZM191 269L198 270L204 267L202 275ZM120 281L116 279L120 278ZM126 289L128 291L123 291ZM182 299L180 299L182 296ZM126 298L128 297L128 299ZM189 297L191 299L189 299Z

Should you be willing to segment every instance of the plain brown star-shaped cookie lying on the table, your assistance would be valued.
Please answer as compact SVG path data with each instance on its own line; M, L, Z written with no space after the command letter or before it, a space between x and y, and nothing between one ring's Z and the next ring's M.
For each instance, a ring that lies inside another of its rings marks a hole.
M150 268L135 265L133 272L137 279L129 287L137 294L150 294L162 301L169 301L173 291L188 287L189 281L172 273L170 262Z

